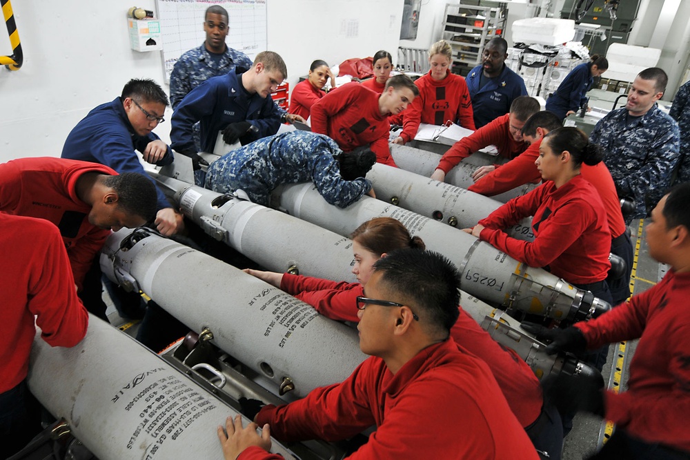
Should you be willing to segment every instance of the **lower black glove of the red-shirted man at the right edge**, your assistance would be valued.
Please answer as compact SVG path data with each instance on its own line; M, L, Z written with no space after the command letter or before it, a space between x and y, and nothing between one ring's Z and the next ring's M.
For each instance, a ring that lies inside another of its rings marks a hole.
M604 417L604 378L602 374L569 375L561 372L542 382L544 403L551 403L561 414L590 412Z

